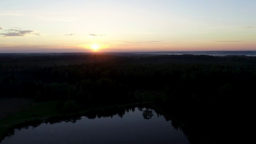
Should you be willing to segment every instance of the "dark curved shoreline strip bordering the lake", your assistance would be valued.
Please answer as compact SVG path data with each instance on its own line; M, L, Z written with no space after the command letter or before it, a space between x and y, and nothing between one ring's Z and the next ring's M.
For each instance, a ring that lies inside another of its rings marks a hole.
M195 130L190 130L188 129L185 124L182 124L181 122L179 122L176 118L172 117L171 115L167 114L162 108L160 108L160 106L158 106L157 104L155 104L154 102L142 102L142 103L130 103L130 104L122 104L122 105L114 105L114 106L106 106L104 108L90 108L88 110L83 110L80 112L75 112L75 113L69 113L69 114L58 114L58 115L54 115L54 116L44 116L44 117L37 117L37 118L30 118L27 120L19 120L17 122L13 122L10 124L5 124L0 126L0 129L2 130L1 135L0 135L0 142L2 140L4 140L4 138L6 138L6 136L10 135L10 134L14 134L14 130L15 129L19 129L19 128L25 128L28 126L33 126L33 127L37 127L40 124L43 123L59 123L62 121L66 121L67 120L71 120L74 118L79 118L82 116L86 116L92 113L104 113L104 111L108 111L108 110L118 110L118 109L127 109L127 108L131 108L131 107L148 107L148 108L152 108L155 112L160 113L160 115L164 116L164 118L166 118L166 121L171 120L172 123L178 124L178 128L182 129L182 131L186 131L189 134L193 133L193 139L200 139L200 141L202 142L206 142L206 143L210 143L210 144L214 144L214 142L211 142L211 140L209 140L208 138L206 138L205 136L202 136L202 134L196 132ZM178 130L177 128L177 130ZM3 131L3 129L5 129Z

